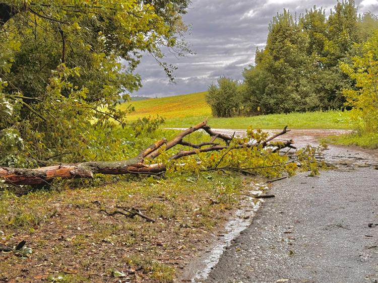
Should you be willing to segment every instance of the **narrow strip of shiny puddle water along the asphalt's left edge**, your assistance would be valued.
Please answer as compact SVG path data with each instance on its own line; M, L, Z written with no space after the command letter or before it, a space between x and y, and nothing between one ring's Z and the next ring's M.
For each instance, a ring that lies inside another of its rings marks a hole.
M233 218L226 223L224 227L226 233L219 238L210 252L204 254L198 259L200 266L197 266L197 270L191 270L193 273L195 272L191 278L192 282L200 283L203 280L206 280L211 270L218 263L225 249L231 245L232 240L245 230L253 221L256 212L264 201L263 199L254 198L253 196L262 194L264 191L268 190L269 185L264 183L253 183L251 185L255 189L249 191L249 194L244 200L242 200L240 208L236 210Z

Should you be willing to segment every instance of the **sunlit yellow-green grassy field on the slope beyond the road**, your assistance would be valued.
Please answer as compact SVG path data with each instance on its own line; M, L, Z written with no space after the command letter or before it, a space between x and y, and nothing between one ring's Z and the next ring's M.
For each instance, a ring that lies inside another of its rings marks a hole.
M145 116L156 115L165 118L166 127L190 127L205 118L214 128L245 129L254 128L277 129L288 125L296 129L351 129L348 111L317 111L306 113L271 114L253 117L212 117L211 109L206 103L207 92L180 96L154 98L132 102L136 111L130 114L134 120ZM124 104L121 107L126 107Z

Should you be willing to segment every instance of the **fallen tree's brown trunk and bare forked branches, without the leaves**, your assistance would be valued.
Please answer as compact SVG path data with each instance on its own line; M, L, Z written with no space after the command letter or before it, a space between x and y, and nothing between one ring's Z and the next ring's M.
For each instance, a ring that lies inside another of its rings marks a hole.
M197 130L203 129L211 136L208 143L201 143L198 145L187 143L183 138ZM275 149L282 148L295 148L292 146L292 140L285 142L270 143L272 139L287 133L287 127L274 136L259 142L259 143L246 143L240 144L233 149L250 148L261 145L262 147L275 147ZM224 146L214 143L216 139L221 139L225 143ZM224 135L214 132L208 125L207 121L203 121L198 125L188 128L172 140L160 139L149 148L142 151L137 157L114 162L82 162L75 164L59 164L53 166L40 167L35 169L22 169L22 168L7 168L0 167L0 177L4 179L5 183L14 185L43 185L49 184L55 178L74 179L74 178L93 178L94 174L156 174L166 170L166 166L161 163L146 164L146 160L153 160L158 157L162 152L167 151L177 145L186 146L193 150L179 151L172 155L169 160L177 160L184 156L196 155L203 152L220 151L230 148L229 143L233 139L232 136ZM231 149L231 148L230 148ZM151 162L149 162L151 163Z

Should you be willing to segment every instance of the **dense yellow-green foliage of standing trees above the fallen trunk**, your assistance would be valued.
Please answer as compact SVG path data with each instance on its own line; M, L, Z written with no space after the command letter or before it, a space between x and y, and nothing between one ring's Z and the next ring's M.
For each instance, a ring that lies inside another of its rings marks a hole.
M180 37L187 4L2 3L12 17L0 19L0 165L117 158L117 138L109 138L121 131L117 124L130 140L154 130L161 119L128 123L133 108L117 105L141 86L135 68L142 52L151 53L172 79L173 67L161 61L160 48L190 51Z

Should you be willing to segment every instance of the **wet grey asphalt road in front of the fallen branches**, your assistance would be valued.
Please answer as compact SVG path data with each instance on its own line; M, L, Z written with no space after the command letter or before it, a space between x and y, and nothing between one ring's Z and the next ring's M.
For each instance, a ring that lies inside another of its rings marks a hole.
M378 282L378 158L325 154L338 169L274 183L203 282Z

